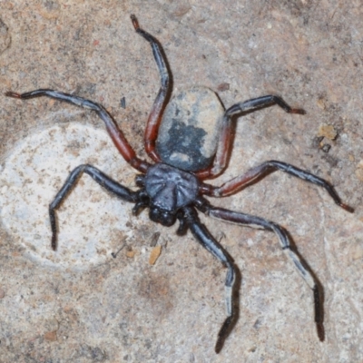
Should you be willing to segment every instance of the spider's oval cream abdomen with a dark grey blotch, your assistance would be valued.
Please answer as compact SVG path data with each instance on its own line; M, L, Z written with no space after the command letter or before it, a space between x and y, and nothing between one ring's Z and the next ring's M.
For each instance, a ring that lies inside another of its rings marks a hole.
M209 88L192 87L173 96L156 141L162 162L188 172L208 168L217 149L223 114L221 101Z

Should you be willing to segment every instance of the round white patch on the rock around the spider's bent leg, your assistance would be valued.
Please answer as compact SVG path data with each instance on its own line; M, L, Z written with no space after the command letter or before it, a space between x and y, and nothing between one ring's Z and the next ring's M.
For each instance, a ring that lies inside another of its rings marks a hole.
M78 123L54 126L25 138L8 156L0 173L1 219L25 255L59 268L84 269L111 258L132 235L126 227L132 203L83 174L56 211L58 248L51 248L48 206L69 172L89 163L126 187L135 171L124 162L103 130Z

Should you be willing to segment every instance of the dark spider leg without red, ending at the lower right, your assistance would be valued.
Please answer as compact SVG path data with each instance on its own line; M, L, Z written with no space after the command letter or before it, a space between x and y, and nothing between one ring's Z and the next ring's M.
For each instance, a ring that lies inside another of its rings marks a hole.
M279 224L271 221L267 221L263 218L252 216L237 211L229 211L222 208L211 206L207 203L198 206L198 208L209 215L210 217L217 218L223 221L229 221L231 223L237 223L248 227L260 228L266 231L275 232L278 236L282 250L286 252L289 260L292 261L296 270L298 270L300 276L309 285L309 288L313 290L314 294L314 315L315 323L317 326L318 337L320 341L324 340L324 326L323 326L323 309L322 301L320 299L319 281L313 276L306 266L306 263L300 259L299 254L292 250L288 232L282 228Z

